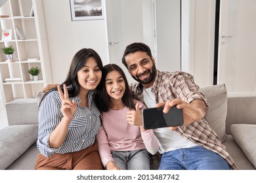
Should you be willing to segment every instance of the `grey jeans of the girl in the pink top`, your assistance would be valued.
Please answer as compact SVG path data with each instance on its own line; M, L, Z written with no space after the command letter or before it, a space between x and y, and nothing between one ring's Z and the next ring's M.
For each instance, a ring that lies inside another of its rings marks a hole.
M150 156L147 150L112 151L117 167L123 170L149 170Z

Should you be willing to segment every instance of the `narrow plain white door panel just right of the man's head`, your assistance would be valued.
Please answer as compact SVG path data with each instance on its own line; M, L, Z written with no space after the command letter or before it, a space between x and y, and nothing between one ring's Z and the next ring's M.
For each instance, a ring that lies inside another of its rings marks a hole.
M156 0L156 67L181 71L181 1Z

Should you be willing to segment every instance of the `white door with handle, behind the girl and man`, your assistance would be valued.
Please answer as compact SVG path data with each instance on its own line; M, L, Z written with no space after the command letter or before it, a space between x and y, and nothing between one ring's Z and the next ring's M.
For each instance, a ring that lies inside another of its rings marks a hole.
M150 1L147 2L150 3ZM152 43L146 41L144 37L146 35L144 31L147 31L147 34L152 39L153 20L150 17L151 15L146 16L148 20L145 20L145 16L143 16L145 13L143 11L144 8L146 8L144 0L106 0L109 63L119 65L125 72L129 82L134 82L135 80L121 63L125 46L132 42L145 42L152 48ZM149 28L144 29L144 21L147 22Z

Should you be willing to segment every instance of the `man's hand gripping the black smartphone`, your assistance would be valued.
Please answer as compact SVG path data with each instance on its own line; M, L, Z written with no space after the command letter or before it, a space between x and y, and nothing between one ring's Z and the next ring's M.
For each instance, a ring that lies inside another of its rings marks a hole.
M190 125L193 122L198 122L207 113L207 107L205 102L200 99L195 99L192 103L186 103L181 99L169 100L167 102L158 103L156 107L163 107L163 112L169 112L170 108L177 105L177 108L183 109L183 125ZM171 130L175 130L177 127L169 127Z

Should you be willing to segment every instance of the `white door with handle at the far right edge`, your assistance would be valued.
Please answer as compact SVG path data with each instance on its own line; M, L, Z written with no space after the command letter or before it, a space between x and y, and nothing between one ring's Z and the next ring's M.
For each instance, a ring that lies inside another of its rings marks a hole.
M221 0L217 84L228 92L254 92L256 1Z

